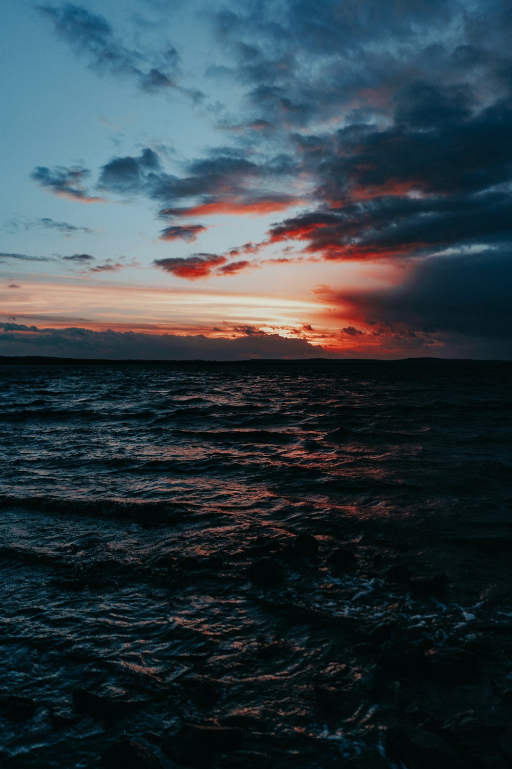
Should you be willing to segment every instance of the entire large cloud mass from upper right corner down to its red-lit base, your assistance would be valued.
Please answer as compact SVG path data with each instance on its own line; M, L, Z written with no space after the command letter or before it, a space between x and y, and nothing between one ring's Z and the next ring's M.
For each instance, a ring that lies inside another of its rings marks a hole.
M291 140L296 174L315 183L309 210L276 221L271 243L375 260L512 241L502 3L484 15L447 0L242 0L215 18L236 62L224 75L246 85L249 115L232 127L271 123L261 146Z

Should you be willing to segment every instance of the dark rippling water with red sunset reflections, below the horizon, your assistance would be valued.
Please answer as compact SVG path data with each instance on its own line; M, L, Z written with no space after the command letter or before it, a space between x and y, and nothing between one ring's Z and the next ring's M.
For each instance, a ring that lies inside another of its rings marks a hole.
M173 767L187 722L239 731L185 765L266 765L219 757L233 747L276 767L414 769L434 761L390 742L397 724L423 718L444 740L459 711L504 718L511 374L447 361L2 366L5 764L94 767L127 734ZM340 545L355 555L341 571ZM396 581L397 564L447 574L448 589ZM397 669L401 644L405 657L439 652L441 674ZM462 660L453 681L447 650ZM80 704L77 689L101 700ZM12 694L35 712L9 712ZM448 743L461 766L491 766ZM510 766L496 750L492 766Z

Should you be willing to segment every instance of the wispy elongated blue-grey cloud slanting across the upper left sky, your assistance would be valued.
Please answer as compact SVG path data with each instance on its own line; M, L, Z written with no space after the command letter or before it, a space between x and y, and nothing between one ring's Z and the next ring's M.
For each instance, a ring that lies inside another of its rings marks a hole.
M39 6L51 19L58 35L71 48L88 58L89 65L100 73L134 78L145 91L175 87L178 55L172 45L157 55L127 48L117 38L107 20L78 5Z

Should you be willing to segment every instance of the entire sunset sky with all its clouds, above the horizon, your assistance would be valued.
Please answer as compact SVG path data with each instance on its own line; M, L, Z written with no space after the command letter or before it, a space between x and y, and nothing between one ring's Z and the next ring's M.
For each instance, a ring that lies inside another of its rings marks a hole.
M512 358L510 0L0 15L0 355Z

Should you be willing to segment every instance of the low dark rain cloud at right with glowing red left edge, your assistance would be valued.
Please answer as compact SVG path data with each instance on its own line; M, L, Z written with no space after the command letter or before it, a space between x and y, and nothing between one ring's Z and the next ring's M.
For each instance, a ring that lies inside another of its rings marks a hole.
M325 321L340 322L340 348L424 355L510 358L510 250L445 255L411 262L400 283L385 288L315 294L328 303ZM437 351L434 353L432 350Z

